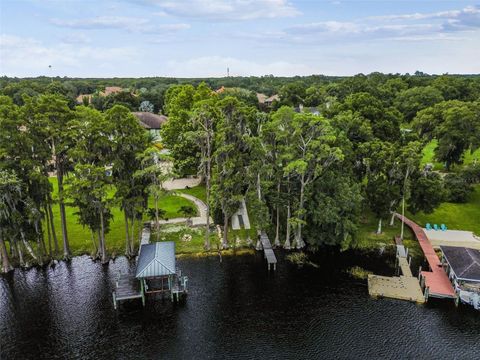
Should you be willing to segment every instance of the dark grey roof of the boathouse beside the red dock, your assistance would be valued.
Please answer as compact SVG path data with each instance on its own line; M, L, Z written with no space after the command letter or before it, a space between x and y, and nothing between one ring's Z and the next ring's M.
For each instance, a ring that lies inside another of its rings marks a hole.
M440 249L458 279L480 281L480 251L456 246Z

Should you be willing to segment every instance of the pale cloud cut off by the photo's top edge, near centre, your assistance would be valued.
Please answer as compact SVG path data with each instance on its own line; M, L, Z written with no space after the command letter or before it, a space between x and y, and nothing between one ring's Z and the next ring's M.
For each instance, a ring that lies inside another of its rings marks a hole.
M139 1L139 0L137 0ZM140 0L165 14L203 20L253 20L300 15L287 0Z

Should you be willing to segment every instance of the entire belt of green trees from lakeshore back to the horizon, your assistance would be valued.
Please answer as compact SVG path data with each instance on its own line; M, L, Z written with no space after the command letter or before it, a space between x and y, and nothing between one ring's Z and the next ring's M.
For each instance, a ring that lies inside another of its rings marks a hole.
M480 178L478 166L459 166L479 146L475 76L53 80L0 80L4 270L9 259L24 262L25 252L39 263L60 252L70 256L67 199L103 261L111 208L120 206L125 252L132 254L148 195L159 218L164 176L159 154L131 114L138 108L168 115L163 145L179 176L203 177L208 212L224 226L224 247L243 199L257 229L277 246L347 248L355 244L361 214L373 214L381 232L382 221L403 206L431 212L445 200L465 201ZM108 85L128 91L75 104L78 94ZM220 86L225 91L215 92ZM256 92L280 98L265 109ZM436 160L453 171L447 176L421 165L422 149L433 139ZM52 206L60 209L61 239Z

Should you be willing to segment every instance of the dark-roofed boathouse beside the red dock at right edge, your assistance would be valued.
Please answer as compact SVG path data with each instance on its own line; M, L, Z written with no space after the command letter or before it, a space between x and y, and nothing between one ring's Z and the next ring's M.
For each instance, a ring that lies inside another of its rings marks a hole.
M440 246L442 266L457 297L480 309L480 251L466 247Z

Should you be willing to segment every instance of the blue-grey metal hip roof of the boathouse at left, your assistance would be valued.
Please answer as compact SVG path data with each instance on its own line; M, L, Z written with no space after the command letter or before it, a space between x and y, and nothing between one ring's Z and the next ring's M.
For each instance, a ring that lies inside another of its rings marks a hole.
M175 274L175 243L161 241L144 244L138 256L136 278Z

